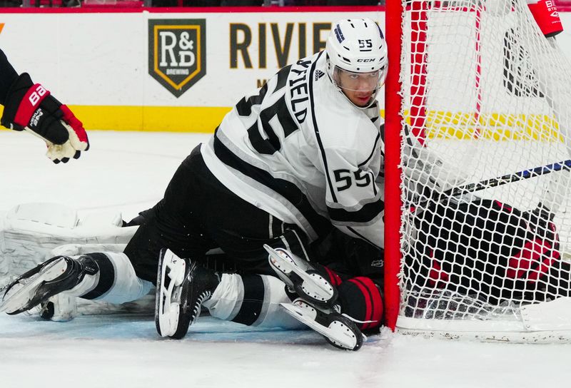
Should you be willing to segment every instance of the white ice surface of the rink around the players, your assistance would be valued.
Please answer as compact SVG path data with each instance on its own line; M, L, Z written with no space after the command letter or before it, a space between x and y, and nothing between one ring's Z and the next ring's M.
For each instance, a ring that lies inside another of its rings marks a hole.
M89 133L91 150L54 165L38 139L0 131L0 211L28 202L129 219L161 198L196 134ZM45 322L0 316L0 388L571 386L571 345L424 339L383 332L343 352L310 331L241 327L203 317L181 341L153 317Z

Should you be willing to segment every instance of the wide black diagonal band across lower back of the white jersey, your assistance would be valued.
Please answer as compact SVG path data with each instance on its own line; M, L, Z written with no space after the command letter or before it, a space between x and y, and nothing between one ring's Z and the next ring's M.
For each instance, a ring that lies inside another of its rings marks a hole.
M240 171L249 178L256 180L256 182L265 185L267 188L270 188L288 200L300 211L301 214L303 214L305 219L308 220L308 223L310 223L313 230L315 230L315 233L323 236L329 232L331 229L330 222L327 218L319 215L311 207L308 198L305 197L296 185L284 179L274 178L267 171L257 168L250 163L246 163L224 146L222 141L216 135L214 136L214 153L216 153L218 159L220 159L224 164Z

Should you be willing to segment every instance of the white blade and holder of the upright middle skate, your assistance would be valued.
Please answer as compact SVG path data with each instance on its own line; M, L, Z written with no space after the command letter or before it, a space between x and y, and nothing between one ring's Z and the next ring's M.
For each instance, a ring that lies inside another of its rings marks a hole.
M167 275L167 270L170 270ZM179 304L172 302L174 287L178 287L184 280L186 262L176 256L171 250L166 250L158 265L158 278L156 285L155 322L158 335L170 337L178 327ZM172 277L171 277L172 275ZM165 287L166 277L171 281Z

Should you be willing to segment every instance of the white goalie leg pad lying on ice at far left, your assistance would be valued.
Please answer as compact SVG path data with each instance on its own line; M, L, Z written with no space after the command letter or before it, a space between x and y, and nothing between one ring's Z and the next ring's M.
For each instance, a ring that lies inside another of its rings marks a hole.
M121 228L122 223L117 212L79 218L77 211L66 205L17 205L0 219L0 287L40 262L63 254L52 252L61 245L76 245L76 254L81 254L80 245L96 244L101 250L101 245L126 244L136 227Z

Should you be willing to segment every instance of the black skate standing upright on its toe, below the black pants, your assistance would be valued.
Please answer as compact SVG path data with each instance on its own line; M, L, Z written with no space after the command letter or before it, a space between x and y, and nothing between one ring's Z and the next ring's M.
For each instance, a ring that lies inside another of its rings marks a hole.
M156 281L155 324L161 337L181 339L220 280L197 262L162 250Z

